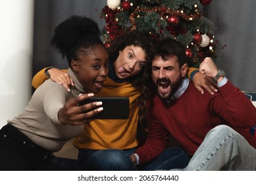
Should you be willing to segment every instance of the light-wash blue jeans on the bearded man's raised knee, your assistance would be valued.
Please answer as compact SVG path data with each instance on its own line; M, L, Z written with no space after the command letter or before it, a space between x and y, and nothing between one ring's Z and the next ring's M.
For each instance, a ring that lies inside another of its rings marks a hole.
M184 170L256 170L256 150L231 127L217 126L207 133Z

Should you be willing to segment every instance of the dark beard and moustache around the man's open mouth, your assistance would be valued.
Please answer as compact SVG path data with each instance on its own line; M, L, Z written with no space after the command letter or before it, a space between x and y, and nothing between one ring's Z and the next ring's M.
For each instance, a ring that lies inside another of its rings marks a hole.
M163 97L163 95L161 95L161 93L160 93L160 91L159 91L159 83L161 83L161 82L163 82L163 81L170 83L170 93L169 93L166 97ZM180 87L180 84L182 83L182 81L183 81L183 77L182 77L182 76L180 76L180 78L178 78L178 80L175 81L175 82L170 81L170 79L168 79L168 78L164 78L164 79L161 79L161 80L160 80L160 79L157 80L157 83L156 83L157 95L158 95L159 98L160 98L161 100L163 100L163 101L166 101L166 100L168 100L168 99L171 99L172 95L174 95L174 93L176 93L176 91L177 91L178 88Z

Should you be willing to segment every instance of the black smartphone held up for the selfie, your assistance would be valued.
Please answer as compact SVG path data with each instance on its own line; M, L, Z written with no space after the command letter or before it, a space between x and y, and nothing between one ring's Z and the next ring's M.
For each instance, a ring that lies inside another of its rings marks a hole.
M130 112L128 97L91 97L79 103L84 105L92 102L102 102L103 111L92 116L92 119L127 119Z

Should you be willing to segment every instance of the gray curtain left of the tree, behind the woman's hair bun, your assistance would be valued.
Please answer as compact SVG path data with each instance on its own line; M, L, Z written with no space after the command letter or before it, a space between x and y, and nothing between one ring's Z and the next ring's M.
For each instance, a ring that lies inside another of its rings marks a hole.
M67 68L68 62L50 45L55 27L71 15L93 18L100 28L105 0L35 0L33 76L46 66Z

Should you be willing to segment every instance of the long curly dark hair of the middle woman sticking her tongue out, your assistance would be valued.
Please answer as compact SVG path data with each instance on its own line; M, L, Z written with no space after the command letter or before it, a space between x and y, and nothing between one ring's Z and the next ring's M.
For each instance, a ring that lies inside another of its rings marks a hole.
M155 39L153 39L148 32L134 30L116 37L111 42L110 47L107 48L111 62L116 61L119 51L124 50L130 45L141 47L141 49L143 49L145 52L145 59L147 60L146 66L139 74L129 79L130 83L132 83L132 85L134 85L134 87L136 87L136 89L140 92L140 97L137 99L137 103L139 106L139 122L141 122L141 124L146 122L147 94L149 91L149 89L147 89L147 80L149 79L147 68L151 66L151 60L153 59L153 55L155 53L155 43Z

